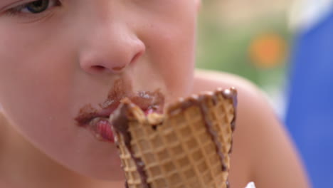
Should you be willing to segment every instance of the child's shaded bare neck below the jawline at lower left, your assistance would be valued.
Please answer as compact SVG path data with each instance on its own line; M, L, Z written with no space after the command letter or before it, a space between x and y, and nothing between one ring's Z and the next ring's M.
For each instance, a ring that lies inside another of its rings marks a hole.
M28 142L0 114L0 184L15 187L124 187L66 169Z

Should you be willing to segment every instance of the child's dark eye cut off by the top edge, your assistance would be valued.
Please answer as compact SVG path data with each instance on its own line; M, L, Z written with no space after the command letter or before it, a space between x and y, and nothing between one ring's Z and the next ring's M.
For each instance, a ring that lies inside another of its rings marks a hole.
M19 5L8 10L10 15L16 14L40 14L43 11L51 9L53 6L59 6L59 0L38 0L27 4Z

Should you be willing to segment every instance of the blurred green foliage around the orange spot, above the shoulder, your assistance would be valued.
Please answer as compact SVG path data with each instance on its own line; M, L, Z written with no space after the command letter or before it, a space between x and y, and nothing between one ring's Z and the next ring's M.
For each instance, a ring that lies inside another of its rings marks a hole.
M281 85L285 78L287 54L278 59L279 62L273 67L260 67L250 58L250 46L260 35L274 33L285 40L288 48L292 36L287 28L285 14L270 14L245 23L231 24L232 21L221 18L218 9L214 7L216 1L204 1L201 7L197 68L234 73L260 86ZM234 10L231 14L239 12Z

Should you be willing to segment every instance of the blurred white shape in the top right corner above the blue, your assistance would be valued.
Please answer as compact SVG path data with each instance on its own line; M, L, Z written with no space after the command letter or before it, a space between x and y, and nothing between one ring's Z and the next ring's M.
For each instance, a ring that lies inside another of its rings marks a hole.
M290 11L290 27L307 30L333 8L333 0L295 0Z

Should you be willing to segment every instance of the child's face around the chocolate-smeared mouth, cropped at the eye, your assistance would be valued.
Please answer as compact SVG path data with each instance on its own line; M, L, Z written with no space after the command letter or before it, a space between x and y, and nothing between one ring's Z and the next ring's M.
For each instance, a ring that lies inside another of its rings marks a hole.
M100 110L115 80L134 93L159 89L166 102L187 95L197 6L196 0L1 0L0 104L53 160L90 177L120 179L115 145L96 140L75 117L86 105Z

